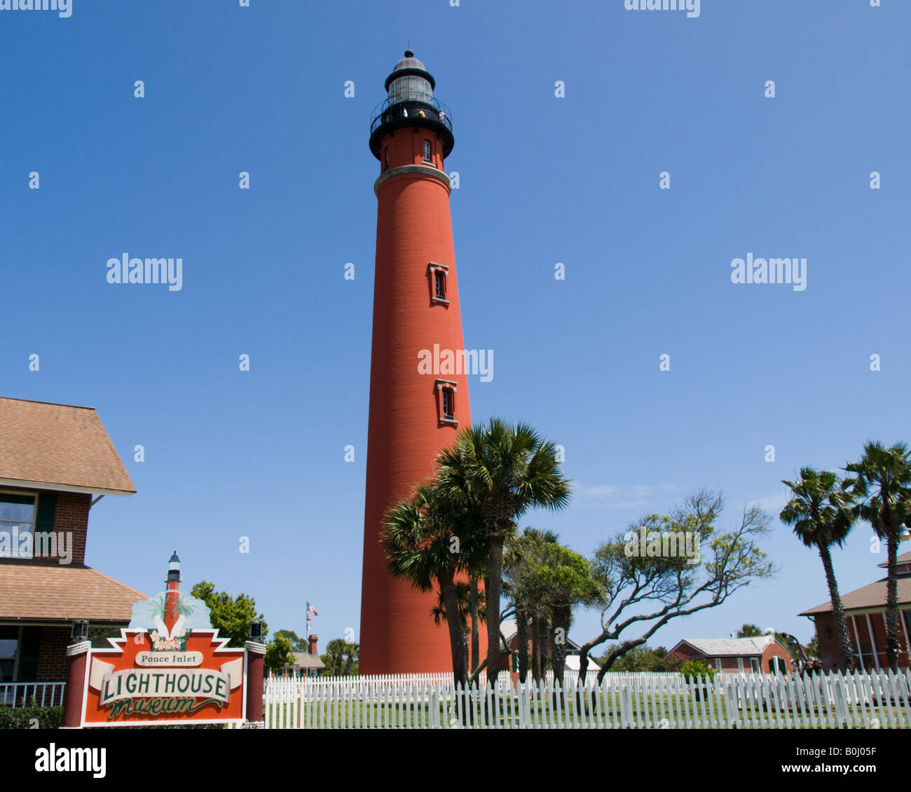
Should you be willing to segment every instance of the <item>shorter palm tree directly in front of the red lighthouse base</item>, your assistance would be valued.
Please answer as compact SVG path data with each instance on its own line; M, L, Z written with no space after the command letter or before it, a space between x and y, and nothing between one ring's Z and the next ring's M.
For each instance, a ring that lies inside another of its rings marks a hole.
M417 591L431 591L438 585L448 613L459 610L455 575L464 569L466 556L453 550L461 550L468 539L466 531L462 536L458 532L466 514L466 509L447 501L438 489L425 483L415 488L412 498L389 509L384 520L382 541L388 570L410 581ZM456 683L464 684L468 662L463 625L464 620L446 620L453 676Z

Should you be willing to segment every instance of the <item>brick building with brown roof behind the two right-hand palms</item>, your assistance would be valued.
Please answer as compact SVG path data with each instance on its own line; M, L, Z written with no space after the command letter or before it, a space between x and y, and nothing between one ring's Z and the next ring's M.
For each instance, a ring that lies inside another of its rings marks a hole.
M887 567L885 561L878 564ZM897 559L898 572L898 667L911 666L908 647L911 646L911 552L903 553ZM885 576L855 591L841 594L844 618L850 633L851 647L855 651L857 664L863 671L877 671L888 668L885 657ZM832 602L824 602L804 611L801 616L809 617L816 628L819 642L819 659L826 671L844 667L838 648L838 633L835 630Z

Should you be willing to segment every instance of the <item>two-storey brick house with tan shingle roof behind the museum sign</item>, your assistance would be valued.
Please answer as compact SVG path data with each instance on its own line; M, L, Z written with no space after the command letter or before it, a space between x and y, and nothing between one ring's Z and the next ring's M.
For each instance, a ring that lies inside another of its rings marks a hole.
M62 681L74 622L100 644L147 598L86 565L92 507L135 492L93 408L0 398L0 684Z

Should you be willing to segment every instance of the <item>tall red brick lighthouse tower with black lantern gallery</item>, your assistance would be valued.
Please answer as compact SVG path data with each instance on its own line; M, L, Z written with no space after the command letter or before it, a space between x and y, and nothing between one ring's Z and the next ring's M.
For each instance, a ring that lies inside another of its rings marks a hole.
M363 526L361 674L452 670L445 627L430 615L435 593L420 594L385 568L379 536L386 509L432 475L437 452L471 424L464 370L419 369L461 350L452 222L444 159L455 139L435 80L409 49L386 77L370 150L380 160L374 340ZM435 351L439 350L439 354ZM438 366L432 366L438 368Z

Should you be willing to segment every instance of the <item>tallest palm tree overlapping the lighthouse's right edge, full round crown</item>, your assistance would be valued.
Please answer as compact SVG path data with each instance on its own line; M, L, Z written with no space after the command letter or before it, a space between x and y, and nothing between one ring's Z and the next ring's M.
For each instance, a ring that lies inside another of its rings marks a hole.
M466 509L480 509L490 557L486 576L487 679L499 673L500 575L503 545L516 519L536 506L562 509L569 482L559 471L557 449L524 424L498 418L464 429L437 457L436 486Z

